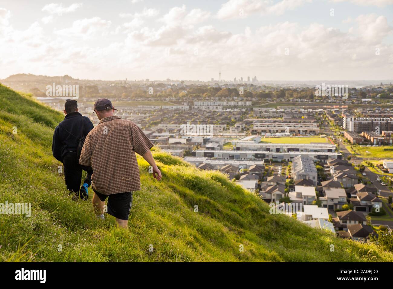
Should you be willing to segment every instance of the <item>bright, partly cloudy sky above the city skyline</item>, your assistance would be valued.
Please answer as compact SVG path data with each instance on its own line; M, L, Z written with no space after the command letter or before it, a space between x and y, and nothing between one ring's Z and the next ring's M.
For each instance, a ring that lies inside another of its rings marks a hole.
M393 78L393 0L0 0L0 79Z

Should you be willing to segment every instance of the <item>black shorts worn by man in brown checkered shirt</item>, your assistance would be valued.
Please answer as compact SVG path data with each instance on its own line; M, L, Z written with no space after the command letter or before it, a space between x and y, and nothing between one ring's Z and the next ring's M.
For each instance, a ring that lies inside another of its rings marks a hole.
M104 195L96 190L94 193L104 202L108 198L108 214L121 220L128 220L132 205L132 191L127 193L118 193L112 195Z

